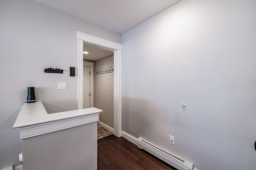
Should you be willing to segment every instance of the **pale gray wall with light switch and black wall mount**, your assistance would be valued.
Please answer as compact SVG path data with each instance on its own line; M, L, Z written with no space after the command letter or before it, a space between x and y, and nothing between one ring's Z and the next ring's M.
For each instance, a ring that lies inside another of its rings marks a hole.
M49 113L77 109L76 31L121 42L118 33L32 0L0 0L0 168L19 163L22 143L12 126L29 86ZM64 74L44 73L50 66ZM67 82L67 90L58 90L58 82Z

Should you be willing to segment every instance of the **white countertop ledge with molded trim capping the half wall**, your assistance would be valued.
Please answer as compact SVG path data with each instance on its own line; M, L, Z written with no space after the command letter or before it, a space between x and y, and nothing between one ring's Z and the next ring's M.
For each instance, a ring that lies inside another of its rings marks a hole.
M48 114L42 102L24 103L13 125L20 139L85 125L99 120L101 109L90 107Z

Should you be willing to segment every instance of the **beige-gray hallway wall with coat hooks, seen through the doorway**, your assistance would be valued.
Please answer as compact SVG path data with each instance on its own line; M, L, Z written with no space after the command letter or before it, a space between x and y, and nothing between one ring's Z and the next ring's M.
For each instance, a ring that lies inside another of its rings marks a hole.
M114 55L95 62L95 70L112 66ZM102 109L100 121L114 128L114 72L97 74L95 77L95 107Z

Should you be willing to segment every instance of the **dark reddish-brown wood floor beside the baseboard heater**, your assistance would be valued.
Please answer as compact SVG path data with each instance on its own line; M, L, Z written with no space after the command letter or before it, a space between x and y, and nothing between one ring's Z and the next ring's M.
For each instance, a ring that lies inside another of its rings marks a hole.
M98 145L98 170L177 170L120 137Z

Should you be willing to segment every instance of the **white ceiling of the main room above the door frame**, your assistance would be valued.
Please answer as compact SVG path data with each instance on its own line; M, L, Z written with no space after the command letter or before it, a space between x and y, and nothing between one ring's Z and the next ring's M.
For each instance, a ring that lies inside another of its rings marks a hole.
M122 34L180 0L34 1Z

